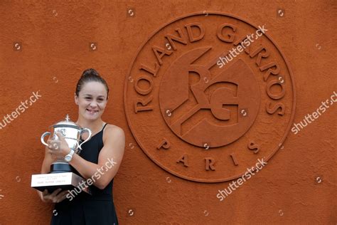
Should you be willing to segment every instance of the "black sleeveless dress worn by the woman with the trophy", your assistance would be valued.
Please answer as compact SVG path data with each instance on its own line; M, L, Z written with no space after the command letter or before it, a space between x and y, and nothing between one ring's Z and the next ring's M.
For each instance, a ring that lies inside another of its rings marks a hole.
M98 155L103 147L103 130L92 136L88 142L82 145L80 156L97 164ZM77 171L74 171L79 174ZM103 171L104 172L104 171ZM80 175L80 174L79 174ZM97 179L94 177L94 179ZM81 192L73 198L65 199L62 202L55 204L53 217L50 224L52 225L117 225L117 215L114 209L112 186L114 179L105 187L105 189L98 189L94 185L90 186L92 195Z

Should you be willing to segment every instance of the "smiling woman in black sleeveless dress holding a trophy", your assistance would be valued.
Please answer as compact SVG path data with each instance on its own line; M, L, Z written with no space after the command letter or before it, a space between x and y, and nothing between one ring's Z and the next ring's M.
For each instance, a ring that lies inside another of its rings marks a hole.
M92 137L82 145L80 155L73 154L69 164L87 181L98 171L100 177L95 176L96 179L90 186L92 195L81 192L70 196L70 192L60 192L61 189L53 193L48 193L47 190L38 192L43 202L55 203L51 224L118 224L112 185L124 155L125 137L122 128L102 121L108 95L107 83L97 71L85 70L75 91L75 103L78 105L76 123L89 128ZM55 140L48 140L42 173L50 172L50 164L55 157L65 157L70 153L65 139L60 133L57 135L60 139L59 149L53 145ZM87 134L83 134L85 135ZM82 137L83 140L85 138Z

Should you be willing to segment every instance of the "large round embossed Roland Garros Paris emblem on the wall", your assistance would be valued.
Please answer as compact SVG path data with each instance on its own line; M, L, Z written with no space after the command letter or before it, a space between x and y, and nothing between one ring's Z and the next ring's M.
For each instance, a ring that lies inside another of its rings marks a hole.
M267 28L189 14L144 43L124 85L129 127L167 172L196 182L241 177L282 146L294 80Z

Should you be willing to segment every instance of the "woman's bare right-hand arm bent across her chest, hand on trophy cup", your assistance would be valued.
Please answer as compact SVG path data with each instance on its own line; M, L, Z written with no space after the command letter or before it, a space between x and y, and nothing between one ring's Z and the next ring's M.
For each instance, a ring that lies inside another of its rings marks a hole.
M88 162L77 154L74 154L73 159L69 162L84 179L92 179L93 184L99 189L105 189L117 174L125 147L125 135L122 128L106 127L104 135L104 146L100 151L97 164ZM60 139L60 154L68 155L70 149L67 142L60 133L58 133L58 137Z

